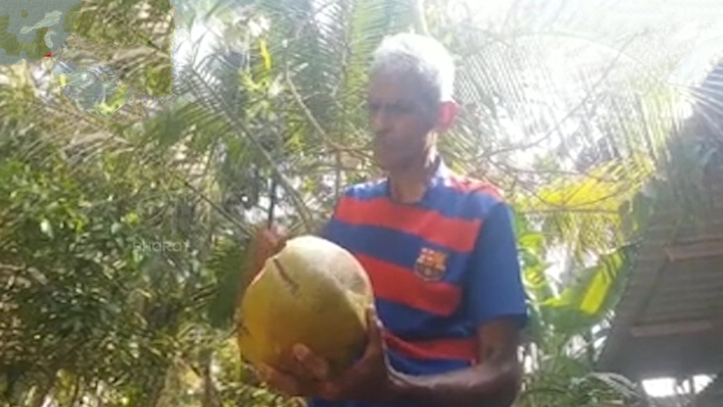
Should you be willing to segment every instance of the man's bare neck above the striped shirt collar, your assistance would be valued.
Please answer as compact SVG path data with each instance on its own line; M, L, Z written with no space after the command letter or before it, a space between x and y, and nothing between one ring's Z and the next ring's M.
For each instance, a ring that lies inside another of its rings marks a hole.
M419 164L400 171L389 172L389 192L393 200L403 204L415 204L427 192L429 179L439 164L439 156L432 152Z

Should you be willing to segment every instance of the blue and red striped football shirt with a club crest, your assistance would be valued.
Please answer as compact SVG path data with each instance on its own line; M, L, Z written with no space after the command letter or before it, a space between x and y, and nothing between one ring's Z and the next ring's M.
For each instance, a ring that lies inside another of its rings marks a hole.
M351 186L322 236L367 270L389 361L400 372L469 367L480 324L526 322L508 205L491 185L455 175L443 162L416 204L393 201L387 180ZM312 400L309 407L372 406Z

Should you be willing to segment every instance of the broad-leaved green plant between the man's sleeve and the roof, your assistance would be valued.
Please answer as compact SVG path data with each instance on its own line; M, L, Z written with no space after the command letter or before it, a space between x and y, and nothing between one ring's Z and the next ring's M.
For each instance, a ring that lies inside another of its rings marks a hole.
M523 382L520 407L534 406L649 406L641 388L625 377L595 372L599 342L595 327L604 322L630 271L630 247L600 256L596 264L576 273L562 288L545 273L544 235L516 218L516 232L531 322L523 361L531 372Z

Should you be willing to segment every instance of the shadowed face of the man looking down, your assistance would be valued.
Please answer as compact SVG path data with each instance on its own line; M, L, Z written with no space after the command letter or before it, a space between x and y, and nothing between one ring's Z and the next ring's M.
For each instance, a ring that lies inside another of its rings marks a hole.
M387 171L406 169L434 143L437 112L419 98L419 86L408 75L372 75L369 119L377 164Z

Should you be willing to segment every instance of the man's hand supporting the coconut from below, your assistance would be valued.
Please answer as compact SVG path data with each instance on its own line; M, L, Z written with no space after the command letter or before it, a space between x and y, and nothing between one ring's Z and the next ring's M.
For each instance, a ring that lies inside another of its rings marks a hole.
M331 377L329 364L303 344L294 347L298 361L293 373L260 366L260 377L286 395L333 401L383 402L393 397L392 371L385 354L382 326L369 310L369 342L363 356L339 377ZM322 334L323 335L323 334Z

